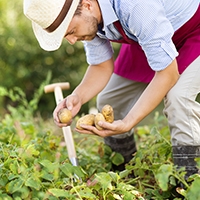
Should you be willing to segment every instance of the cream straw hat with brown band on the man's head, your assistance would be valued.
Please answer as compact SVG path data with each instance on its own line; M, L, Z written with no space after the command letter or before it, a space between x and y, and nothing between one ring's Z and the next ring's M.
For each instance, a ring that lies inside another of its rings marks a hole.
M24 14L46 51L57 50L80 0L24 0Z

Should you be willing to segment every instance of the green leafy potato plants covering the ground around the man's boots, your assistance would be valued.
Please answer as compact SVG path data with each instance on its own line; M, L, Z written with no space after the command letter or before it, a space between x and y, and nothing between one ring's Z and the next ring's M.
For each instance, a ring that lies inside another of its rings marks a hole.
M112 152L101 138L76 132L79 166L73 166L61 129L52 119L43 120L37 109L48 81L41 84L31 101L20 88L0 87L0 96L17 102L1 116L0 199L200 199L200 176L193 175L191 183L186 183L184 169L176 170L169 130L158 113L153 125L135 129L138 151L124 171L111 170L112 163L121 164L123 157Z

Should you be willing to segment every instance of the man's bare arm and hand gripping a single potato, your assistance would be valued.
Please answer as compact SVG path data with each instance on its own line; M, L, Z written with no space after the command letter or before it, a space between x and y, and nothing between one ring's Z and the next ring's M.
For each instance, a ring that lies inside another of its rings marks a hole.
M113 68L113 58L99 65L91 65L88 67L81 83L75 88L73 93L56 106L53 112L53 118L57 126L63 127L69 125L60 123L58 119L60 109L68 108L74 117L84 103L96 96L106 86L113 73Z

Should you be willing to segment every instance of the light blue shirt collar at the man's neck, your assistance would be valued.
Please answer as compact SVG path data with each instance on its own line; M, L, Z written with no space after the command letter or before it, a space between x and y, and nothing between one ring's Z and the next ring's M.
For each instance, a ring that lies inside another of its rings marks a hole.
M102 13L104 26L102 30L104 31L106 26L117 21L118 18L109 0L98 0L98 3Z

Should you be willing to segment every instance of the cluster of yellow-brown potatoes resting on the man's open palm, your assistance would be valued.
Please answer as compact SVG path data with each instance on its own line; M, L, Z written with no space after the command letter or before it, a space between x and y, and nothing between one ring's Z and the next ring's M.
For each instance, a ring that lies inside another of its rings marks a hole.
M102 127L98 125L99 121L106 121L112 123L114 121L114 112L113 108L110 105L105 105L101 112L95 114L87 114L81 118L76 123L76 128L83 130L80 124L86 124L90 126L95 126L98 130L103 130Z

